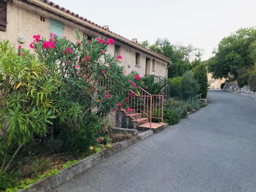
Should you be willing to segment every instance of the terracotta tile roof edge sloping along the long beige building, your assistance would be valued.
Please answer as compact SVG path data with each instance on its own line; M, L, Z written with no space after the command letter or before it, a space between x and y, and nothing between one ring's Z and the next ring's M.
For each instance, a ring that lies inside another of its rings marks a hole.
M81 19L81 20L83 20L83 21L89 22L90 24L94 25L95 27L99 27L99 28L101 28L101 29L104 29L103 27L97 25L96 23L94 23L94 22L92 22L92 21L90 21L90 20L87 20L86 18L83 18L83 17L79 16L78 14L76 14L76 13L74 13L74 12L70 12L69 10L65 9L64 7L61 7L61 6L55 4L55 3L51 2L51 1L48 1L48 0L39 0L39 1L44 2L44 3L46 3L46 4L50 5L50 6L53 6L53 7L55 7L56 9L58 9L58 10L60 10L60 11L64 11L64 12L70 14L70 15L73 15L74 17L76 17L76 18L78 18L78 19ZM141 48L141 50L150 51L150 52L155 53L155 54L159 55L160 57L165 58L166 60L169 60L169 61L170 61L170 58L167 58L167 57L165 57L164 55L159 54L159 53L157 53L157 52L155 52L155 51L149 50L147 47L141 46L139 43L134 43L134 42L132 42L130 39L127 39L127 38L125 38L125 37L123 37L123 36L121 36L121 35L118 35L118 34L114 33L113 31L110 31L109 29L104 29L104 30L108 31L109 33L111 33L111 34L113 34L113 35L116 35L116 36L118 36L118 37L121 37L121 38L123 38L124 40L129 41L130 43L133 43L133 44L139 46L139 47ZM108 35L108 34L106 34L106 35Z

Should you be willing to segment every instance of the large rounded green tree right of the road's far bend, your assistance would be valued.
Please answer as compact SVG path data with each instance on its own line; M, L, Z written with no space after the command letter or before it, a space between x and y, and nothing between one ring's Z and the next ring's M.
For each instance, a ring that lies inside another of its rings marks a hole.
M208 70L215 78L237 78L238 70L253 66L252 53L256 40L256 28L238 29L236 33L224 37L215 56L208 60ZM251 53L250 53L251 50Z

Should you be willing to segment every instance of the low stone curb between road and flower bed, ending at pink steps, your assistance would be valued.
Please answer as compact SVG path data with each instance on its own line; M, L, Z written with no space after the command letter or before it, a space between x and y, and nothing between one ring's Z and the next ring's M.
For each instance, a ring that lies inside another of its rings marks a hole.
M117 142L111 148L103 149L102 151L93 154L89 157L82 159L81 161L63 169L58 175L51 175L46 177L36 183L33 183L29 186L29 189L20 189L18 192L46 192L51 191L51 189L57 188L63 183L70 181L76 175L83 173L90 167L98 164L103 159L110 157L126 149L127 147L137 143L143 139L146 139L150 135L154 134L153 130L148 130L142 133L139 133L135 137L126 139L122 142Z

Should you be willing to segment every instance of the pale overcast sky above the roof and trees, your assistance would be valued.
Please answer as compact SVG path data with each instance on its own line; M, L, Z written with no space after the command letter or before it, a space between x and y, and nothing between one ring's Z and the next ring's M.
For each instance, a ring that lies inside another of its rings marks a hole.
M256 26L256 0L53 0L54 3L138 42L168 38L209 59L214 47L239 28Z

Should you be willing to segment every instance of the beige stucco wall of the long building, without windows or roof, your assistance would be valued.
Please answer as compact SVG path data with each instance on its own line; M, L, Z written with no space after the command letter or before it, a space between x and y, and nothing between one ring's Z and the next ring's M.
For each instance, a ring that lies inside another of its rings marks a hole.
M45 18L45 22L40 20L41 16ZM92 29L78 25L75 22L46 11L34 4L14 0L13 3L7 3L6 33L4 31L0 31L0 39L7 38L12 44L16 46L22 45L23 48L30 49L29 44L33 42L33 35L40 34L42 37L49 37L50 18L63 23L63 36L66 36L73 42L77 41L75 35L75 30L77 28L81 31L81 37L83 36L83 33L94 37L104 36L103 34L99 34ZM26 37L26 42L23 44L19 43L17 40L17 37L20 34ZM120 54L122 55L123 59L119 61L119 64L124 66L127 73L131 73L131 71L137 71L137 73L139 73L141 76L145 75L146 58L149 58L150 62L148 64L147 74L166 77L167 62L162 61L153 55L145 53L142 50L135 49L134 47L123 42L116 41L115 43L121 47ZM108 53L114 56L114 52L115 45L109 45ZM139 66L135 65L136 53L140 54ZM155 70L152 70L153 59L155 60Z

